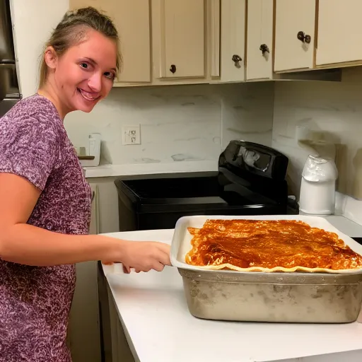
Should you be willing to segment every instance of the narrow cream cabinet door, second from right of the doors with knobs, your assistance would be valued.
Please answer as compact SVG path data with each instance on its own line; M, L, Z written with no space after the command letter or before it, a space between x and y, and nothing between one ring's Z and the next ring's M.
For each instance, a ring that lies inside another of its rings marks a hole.
M273 76L274 0L247 1L247 80Z

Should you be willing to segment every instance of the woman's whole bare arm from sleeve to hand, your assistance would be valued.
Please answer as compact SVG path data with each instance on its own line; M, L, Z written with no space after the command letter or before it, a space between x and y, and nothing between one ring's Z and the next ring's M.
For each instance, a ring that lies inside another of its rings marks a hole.
M20 264L52 266L112 260L148 271L170 264L169 246L132 243L103 235L64 235L28 225L40 191L18 175L0 173L0 258Z

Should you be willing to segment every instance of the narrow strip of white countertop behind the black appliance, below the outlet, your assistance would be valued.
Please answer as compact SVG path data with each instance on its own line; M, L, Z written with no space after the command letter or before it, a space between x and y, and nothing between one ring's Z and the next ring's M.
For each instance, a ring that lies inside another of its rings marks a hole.
M189 173L217 171L217 160L175 161L170 163L134 163L124 165L100 165L85 167L86 178L129 175L151 175L158 173Z

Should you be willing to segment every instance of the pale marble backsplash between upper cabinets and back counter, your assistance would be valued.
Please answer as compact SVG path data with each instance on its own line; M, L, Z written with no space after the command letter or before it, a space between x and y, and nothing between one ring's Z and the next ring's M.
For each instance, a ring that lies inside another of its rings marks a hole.
M231 139L279 149L289 157L288 184L298 197L313 149L298 142L311 129L336 159L337 189L362 199L362 74L356 81L281 81L114 88L93 112L74 112L65 126L74 146L102 134L103 163L215 160ZM141 145L122 145L122 126L141 125ZM329 146L328 146L329 144Z

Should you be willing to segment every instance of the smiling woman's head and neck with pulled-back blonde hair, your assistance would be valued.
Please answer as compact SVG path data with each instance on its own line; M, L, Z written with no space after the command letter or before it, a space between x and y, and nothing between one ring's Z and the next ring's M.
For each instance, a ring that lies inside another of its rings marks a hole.
M119 70L117 30L94 8L66 13L45 47L39 94L58 105L60 115L91 112L110 92ZM62 90L62 99L54 91Z

